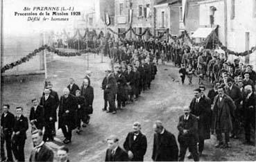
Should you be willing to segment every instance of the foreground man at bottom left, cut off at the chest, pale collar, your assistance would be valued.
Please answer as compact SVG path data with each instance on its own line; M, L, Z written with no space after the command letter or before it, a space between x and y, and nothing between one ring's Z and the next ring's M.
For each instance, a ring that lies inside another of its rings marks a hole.
M31 151L29 161L53 161L53 150L51 150L43 141L42 130L35 130L32 132L32 140L35 147Z

